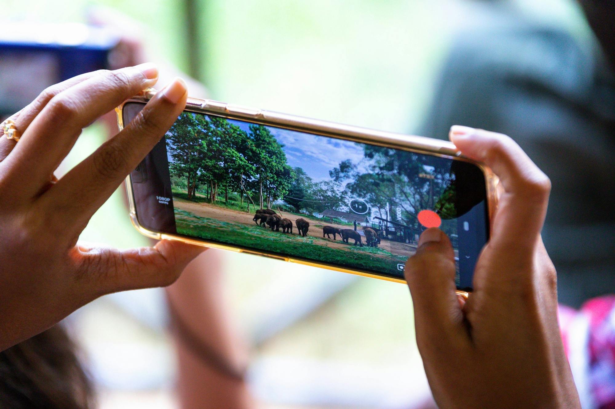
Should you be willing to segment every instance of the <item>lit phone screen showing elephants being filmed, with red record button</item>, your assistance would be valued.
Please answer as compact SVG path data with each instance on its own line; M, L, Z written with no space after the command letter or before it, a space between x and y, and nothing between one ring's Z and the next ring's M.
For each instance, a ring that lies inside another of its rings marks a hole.
M486 208L470 163L189 112L159 145L170 195L155 203L180 235L403 278L438 227L472 286Z

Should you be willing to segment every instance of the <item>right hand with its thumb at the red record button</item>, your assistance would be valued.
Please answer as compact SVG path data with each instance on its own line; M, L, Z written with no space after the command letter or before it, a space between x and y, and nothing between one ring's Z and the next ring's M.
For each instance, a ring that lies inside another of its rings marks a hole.
M547 176L508 136L454 126L451 141L490 166L503 192L467 302L437 228L421 235L405 276L416 341L440 407L580 407L557 322L555 268L542 244Z

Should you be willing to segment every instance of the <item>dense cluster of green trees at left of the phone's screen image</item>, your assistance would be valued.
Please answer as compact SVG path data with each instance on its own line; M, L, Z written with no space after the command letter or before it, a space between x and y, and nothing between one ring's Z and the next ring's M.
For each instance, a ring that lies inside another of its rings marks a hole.
M252 203L258 192L260 208L284 197L293 173L282 147L263 125L250 125L248 133L207 115L182 114L167 133L173 185L186 187L188 200L205 191L212 203L221 190L225 203L229 190Z

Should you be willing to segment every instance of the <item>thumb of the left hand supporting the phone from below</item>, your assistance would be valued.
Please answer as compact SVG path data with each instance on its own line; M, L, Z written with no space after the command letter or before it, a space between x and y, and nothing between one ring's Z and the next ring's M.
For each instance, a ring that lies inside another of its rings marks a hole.
M175 240L161 240L154 247L122 251L81 243L75 247L81 276L93 281L87 285L97 295L169 286L179 278L186 265L206 249Z

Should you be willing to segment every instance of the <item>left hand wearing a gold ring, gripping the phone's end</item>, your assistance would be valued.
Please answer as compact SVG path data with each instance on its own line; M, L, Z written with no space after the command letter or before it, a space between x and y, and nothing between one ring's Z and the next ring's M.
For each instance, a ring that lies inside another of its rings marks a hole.
M14 116L19 142L0 138L0 351L100 295L167 286L203 251L178 241L126 251L77 241L184 109L180 79L62 179L54 177L82 128L156 80L152 64L82 74L48 88Z

